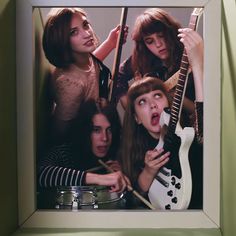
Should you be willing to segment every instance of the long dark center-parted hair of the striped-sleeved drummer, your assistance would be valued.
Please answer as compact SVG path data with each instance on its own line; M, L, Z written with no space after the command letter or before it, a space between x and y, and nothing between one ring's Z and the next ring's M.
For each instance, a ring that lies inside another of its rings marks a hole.
M117 158L120 147L121 123L116 107L109 103L102 104L90 99L81 105L78 116L72 122L69 136L74 153L83 159L80 160L80 166L81 163L85 167L91 166L93 160L97 161L91 149L93 117L97 114L103 114L111 124L112 143L104 159L115 160Z

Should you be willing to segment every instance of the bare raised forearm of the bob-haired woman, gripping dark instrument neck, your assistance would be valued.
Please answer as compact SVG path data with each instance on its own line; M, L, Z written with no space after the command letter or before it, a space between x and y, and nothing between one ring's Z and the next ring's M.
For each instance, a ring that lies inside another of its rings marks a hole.
M116 47L118 36L120 32L120 26L116 26L116 28L112 29L105 39L105 41L93 52L94 56L96 56L100 61L103 61L110 52ZM128 35L128 27L125 27L124 34L124 42L126 42L126 38Z

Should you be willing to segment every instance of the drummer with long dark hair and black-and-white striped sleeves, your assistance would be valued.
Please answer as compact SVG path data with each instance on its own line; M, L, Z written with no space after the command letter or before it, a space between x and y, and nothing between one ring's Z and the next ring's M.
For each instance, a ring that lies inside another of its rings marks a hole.
M116 109L88 100L81 106L69 133L69 143L53 147L37 164L39 207L50 206L50 200L45 201L45 198L58 187L83 189L92 185L106 187L106 195L122 193L129 180L116 160L120 146L120 121ZM99 159L113 172L104 169Z

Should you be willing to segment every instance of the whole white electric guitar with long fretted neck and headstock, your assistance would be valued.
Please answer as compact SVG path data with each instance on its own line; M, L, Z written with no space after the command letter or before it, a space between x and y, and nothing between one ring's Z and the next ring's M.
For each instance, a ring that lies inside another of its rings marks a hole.
M196 29L202 11L202 8L194 8L190 17L189 28ZM150 202L156 209L187 209L191 200L192 175L188 152L194 139L194 129L192 127L182 129L179 124L188 80L188 68L188 58L184 50L170 114L163 111L160 118L162 132L156 148L163 147L164 150L170 150L171 157L169 162L160 169L149 189ZM173 137L173 135L178 137L175 138L177 145L175 144L174 147L168 141L168 137Z

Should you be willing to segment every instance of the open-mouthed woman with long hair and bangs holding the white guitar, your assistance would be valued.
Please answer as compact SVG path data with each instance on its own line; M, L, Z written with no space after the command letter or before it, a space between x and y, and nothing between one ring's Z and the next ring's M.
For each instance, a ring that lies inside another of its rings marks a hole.
M200 96L202 87L196 87L199 89L196 91L197 95ZM131 184L145 195L159 169L171 158L170 152L165 153L163 149L156 149L162 130L159 123L161 113L164 108L171 105L171 98L160 79L146 76L130 86L127 99L121 148L122 170ZM195 103L198 107L202 106L201 99L196 100ZM200 136L201 139L203 114L200 109L196 109L195 112L196 136ZM178 141L176 137L171 137L174 146ZM195 191L197 192L197 196L194 195L191 208L200 208L202 204L200 192L202 155L199 156L199 152L198 148L193 147L189 154L190 162L193 162L192 175L194 180L197 179L193 190L194 194Z

